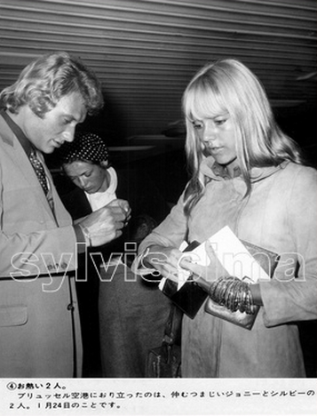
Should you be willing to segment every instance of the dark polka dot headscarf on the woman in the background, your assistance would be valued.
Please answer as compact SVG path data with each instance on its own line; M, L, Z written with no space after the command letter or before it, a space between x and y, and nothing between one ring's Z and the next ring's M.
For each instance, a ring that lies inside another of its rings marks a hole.
M75 161L99 164L107 162L108 150L97 134L76 132L72 142L65 142L59 148L59 157L61 164L70 164Z

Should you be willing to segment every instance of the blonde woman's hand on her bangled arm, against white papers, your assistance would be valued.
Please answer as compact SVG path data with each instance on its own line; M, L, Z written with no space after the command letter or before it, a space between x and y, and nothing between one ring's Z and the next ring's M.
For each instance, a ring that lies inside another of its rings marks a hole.
M191 272L193 274L192 279L208 290L211 282L217 280L220 276L226 276L228 273L218 260L208 240L205 243L205 249L210 260L208 265L197 264L195 262L195 260L198 260L196 259L197 256L191 256L190 252L185 252L182 253L179 266Z

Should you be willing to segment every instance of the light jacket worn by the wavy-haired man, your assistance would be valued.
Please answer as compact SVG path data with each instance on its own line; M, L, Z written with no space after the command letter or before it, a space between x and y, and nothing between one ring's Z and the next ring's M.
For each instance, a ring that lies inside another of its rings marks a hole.
M66 273L75 269L75 231L45 171L54 214L0 116L0 377L81 373L75 282Z

